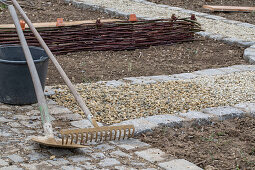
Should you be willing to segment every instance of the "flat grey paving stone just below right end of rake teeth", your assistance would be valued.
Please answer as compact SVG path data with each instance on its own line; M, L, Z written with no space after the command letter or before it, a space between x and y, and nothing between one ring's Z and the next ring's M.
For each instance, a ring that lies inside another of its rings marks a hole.
M131 150L143 147L149 147L150 145L144 142L141 142L139 139L128 139L123 141L111 141L110 143L117 145L120 148Z

